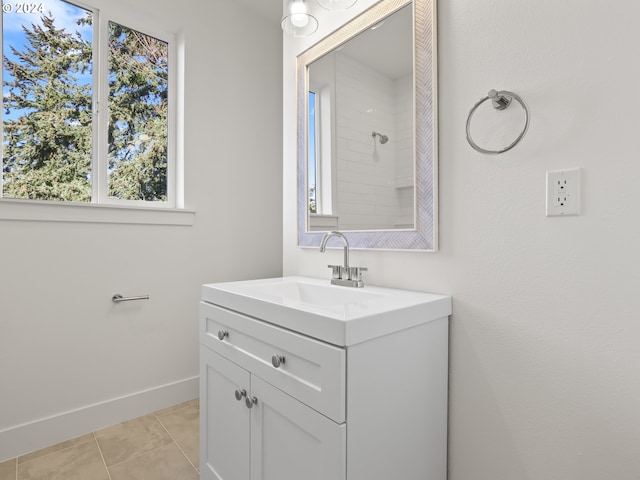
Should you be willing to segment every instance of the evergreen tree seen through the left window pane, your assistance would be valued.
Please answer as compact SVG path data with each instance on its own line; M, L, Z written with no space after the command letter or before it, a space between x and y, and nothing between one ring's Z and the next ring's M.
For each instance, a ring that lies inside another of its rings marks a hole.
M27 45L3 56L3 194L87 202L91 199L91 44L56 29L51 16L23 27Z

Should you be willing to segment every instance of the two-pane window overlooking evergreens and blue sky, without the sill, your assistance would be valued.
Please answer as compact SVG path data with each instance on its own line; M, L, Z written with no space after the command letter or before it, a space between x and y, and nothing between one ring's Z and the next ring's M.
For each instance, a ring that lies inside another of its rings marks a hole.
M177 206L173 37L107 6L4 3L3 198Z

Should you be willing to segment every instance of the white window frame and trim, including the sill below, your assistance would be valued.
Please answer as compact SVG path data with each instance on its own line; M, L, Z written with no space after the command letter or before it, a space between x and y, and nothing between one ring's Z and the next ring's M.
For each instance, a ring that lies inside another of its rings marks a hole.
M148 20L148 13L113 0L70 0L94 15L93 154L91 202L64 202L2 198L0 220L142 223L191 225L195 213L184 209L184 157L180 133L184 99L184 38ZM167 119L167 201L120 200L108 196L108 23L115 22L167 42L169 56ZM0 36L0 47L3 47ZM97 74L96 74L97 72ZM1 115L1 112L0 112ZM1 117L0 117L1 118ZM0 182L0 193L2 192Z

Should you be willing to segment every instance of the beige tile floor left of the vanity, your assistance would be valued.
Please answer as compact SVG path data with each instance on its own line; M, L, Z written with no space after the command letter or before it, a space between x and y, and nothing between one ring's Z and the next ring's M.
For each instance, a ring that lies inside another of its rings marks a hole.
M0 480L198 480L191 400L0 463Z

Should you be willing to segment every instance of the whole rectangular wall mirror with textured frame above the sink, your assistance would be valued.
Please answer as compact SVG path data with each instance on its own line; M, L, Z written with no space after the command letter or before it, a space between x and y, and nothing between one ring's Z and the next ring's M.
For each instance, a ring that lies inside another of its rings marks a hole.
M382 0L297 58L298 244L436 248L431 0Z

